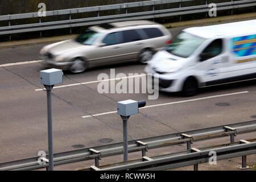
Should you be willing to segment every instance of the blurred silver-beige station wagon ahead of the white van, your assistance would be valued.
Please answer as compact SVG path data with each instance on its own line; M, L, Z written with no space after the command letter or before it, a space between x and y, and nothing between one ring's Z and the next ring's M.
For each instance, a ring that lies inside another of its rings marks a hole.
M43 64L51 68L84 72L101 65L141 61L170 44L172 36L161 24L148 20L92 26L76 39L42 48Z

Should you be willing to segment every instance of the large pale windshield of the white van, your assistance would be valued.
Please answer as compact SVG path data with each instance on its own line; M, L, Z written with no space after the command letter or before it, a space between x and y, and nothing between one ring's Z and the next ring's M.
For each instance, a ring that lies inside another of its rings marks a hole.
M170 46L166 48L166 51L176 56L189 57L204 40L199 36L181 32L174 38Z

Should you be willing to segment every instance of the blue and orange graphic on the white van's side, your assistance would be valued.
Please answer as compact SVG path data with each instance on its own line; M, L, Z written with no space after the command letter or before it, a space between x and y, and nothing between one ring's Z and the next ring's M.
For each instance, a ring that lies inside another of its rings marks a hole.
M239 57L256 55L256 35L233 38L232 49Z

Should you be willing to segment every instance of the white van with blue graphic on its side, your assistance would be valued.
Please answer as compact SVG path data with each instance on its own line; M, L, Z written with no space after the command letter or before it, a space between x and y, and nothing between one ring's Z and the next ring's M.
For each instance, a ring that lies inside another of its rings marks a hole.
M159 89L193 96L198 88L256 78L256 20L183 30L145 68Z

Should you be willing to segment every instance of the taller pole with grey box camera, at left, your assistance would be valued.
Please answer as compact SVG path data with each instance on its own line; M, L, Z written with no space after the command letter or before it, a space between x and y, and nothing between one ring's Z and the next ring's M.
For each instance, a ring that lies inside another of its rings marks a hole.
M63 82L63 72L60 69L40 71L40 83L47 92L47 121L48 121L48 160L49 171L53 171L53 142L52 142L52 88Z

